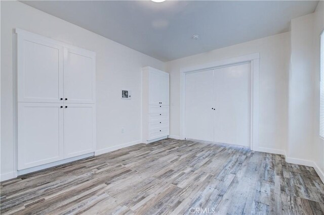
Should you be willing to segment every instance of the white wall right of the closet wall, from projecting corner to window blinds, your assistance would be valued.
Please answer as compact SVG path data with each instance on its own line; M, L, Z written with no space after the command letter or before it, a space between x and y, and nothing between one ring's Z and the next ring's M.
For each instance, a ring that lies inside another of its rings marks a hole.
M320 33L324 5L291 21L289 141L287 160L313 166L324 180L324 141L319 137Z

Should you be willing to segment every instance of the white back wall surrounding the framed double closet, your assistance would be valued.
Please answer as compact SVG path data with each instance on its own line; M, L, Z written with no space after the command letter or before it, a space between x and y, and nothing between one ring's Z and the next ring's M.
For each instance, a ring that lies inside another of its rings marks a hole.
M282 33L167 63L170 73L170 134L180 135L180 69L260 52L260 147L285 150L288 141L290 34Z

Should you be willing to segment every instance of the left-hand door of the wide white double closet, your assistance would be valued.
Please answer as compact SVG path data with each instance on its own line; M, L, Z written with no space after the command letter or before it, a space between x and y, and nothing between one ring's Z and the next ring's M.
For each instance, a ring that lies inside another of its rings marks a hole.
M214 140L213 71L185 75L185 137Z

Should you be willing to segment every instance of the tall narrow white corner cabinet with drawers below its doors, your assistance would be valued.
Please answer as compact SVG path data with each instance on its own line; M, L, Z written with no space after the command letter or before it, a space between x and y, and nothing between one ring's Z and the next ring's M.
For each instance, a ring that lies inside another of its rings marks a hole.
M170 133L170 77L169 73L144 67L142 78L142 139L150 143L167 138Z

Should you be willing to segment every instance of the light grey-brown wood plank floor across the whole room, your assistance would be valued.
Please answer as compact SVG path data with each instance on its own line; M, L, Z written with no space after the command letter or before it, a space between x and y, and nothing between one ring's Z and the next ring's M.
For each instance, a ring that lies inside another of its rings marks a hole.
M2 214L195 212L323 214L324 185L277 154L174 139L1 183Z

